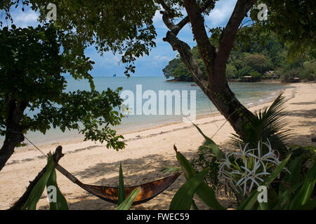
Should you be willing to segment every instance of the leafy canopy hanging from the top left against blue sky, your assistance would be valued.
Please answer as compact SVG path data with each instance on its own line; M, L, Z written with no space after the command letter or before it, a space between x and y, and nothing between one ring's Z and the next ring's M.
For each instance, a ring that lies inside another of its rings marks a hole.
M84 55L84 49L91 45L100 55L112 51L126 64L127 76L135 71L136 58L148 55L155 46L152 18L157 6L154 1L7 0L0 3L0 9L6 10L7 17L11 18L10 9L19 3L39 11L40 22L47 22L48 3L54 3L57 20L51 22L67 34L62 47L68 54L72 57Z

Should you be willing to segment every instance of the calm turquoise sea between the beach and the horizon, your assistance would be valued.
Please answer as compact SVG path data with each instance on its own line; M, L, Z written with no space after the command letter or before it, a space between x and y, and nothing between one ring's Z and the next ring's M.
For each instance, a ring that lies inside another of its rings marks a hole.
M199 87L193 85L194 83L183 83L183 82L167 82L163 76L154 77L95 77L94 83L96 90L106 90L107 87L116 89L117 87L123 87L123 90L131 90L136 95L136 85L142 85L142 90L153 90L157 93L159 90L196 90L196 113L199 116L212 116L213 113L218 112L204 95ZM233 92L235 92L237 99L246 106L252 106L263 102L270 101L270 99L276 97L277 91L286 88L286 86L278 83L229 83ZM74 80L73 78L67 77L67 91L75 90L90 90L90 86L86 80ZM190 105L190 95L188 105ZM136 101L136 97L135 97ZM147 99L143 99L143 103ZM165 108L167 102L165 101ZM172 102L174 111L174 100ZM190 108L190 106L189 106ZM32 116L31 112L27 112ZM33 112L34 113L34 112ZM36 113L36 111L35 111ZM131 130L140 130L148 127L154 127L157 125L163 125L167 123L181 122L183 116L164 115L164 116L145 116L145 115L129 115L127 118L123 118L121 125L114 127L114 130L118 132L128 132ZM62 133L59 129L51 129L46 134L39 132L29 132L26 135L35 144L53 144L56 142L81 139L82 135L78 134L77 131L66 131ZM0 139L3 141L3 139ZM1 143L1 142L0 142Z

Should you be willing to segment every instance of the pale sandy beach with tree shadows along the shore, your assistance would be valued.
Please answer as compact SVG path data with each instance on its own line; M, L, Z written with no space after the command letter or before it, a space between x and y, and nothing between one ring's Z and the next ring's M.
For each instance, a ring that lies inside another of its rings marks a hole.
M287 99L288 128L293 131L292 144L311 145L312 137L316 136L316 83L295 83L284 90ZM271 102L251 107L251 111L262 109ZM225 118L219 114L199 118L195 121L203 132L211 137L218 127L225 123ZM228 140L233 132L229 123L225 123L213 140L229 147ZM192 124L173 123L160 127L129 132L124 134L126 148L121 151L107 149L106 144L92 141L70 141L62 143L65 156L60 165L74 174L83 183L100 186L117 186L119 162L122 163L126 186L160 179L166 174L159 170L166 166L177 165L173 144L187 158L195 156L197 148L202 144L203 137ZM55 151L60 143L41 146L44 153ZM34 147L22 148L15 152L0 172L0 209L8 209L24 193L29 181L46 165L46 159ZM116 206L98 199L85 190L74 185L65 176L57 172L58 186L65 195L70 209L114 209ZM184 183L180 176L161 195L153 200L132 207L132 209L168 209L176 190ZM223 205L232 204L221 197ZM202 204L197 203L201 209ZM46 195L42 195L38 204L39 209L47 209Z

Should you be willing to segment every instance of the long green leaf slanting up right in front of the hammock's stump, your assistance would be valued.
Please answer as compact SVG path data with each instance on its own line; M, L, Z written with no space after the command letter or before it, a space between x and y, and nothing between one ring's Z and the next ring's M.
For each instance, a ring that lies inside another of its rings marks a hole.
M39 199L44 192L46 183L49 179L49 176L51 176L53 169L55 169L53 156L50 156L47 159L46 172L43 174L43 176L41 176L39 182L37 182L37 184L34 186L33 190L29 194L27 202L25 202L25 205L22 207L22 210L35 210L37 208L37 202L39 202Z

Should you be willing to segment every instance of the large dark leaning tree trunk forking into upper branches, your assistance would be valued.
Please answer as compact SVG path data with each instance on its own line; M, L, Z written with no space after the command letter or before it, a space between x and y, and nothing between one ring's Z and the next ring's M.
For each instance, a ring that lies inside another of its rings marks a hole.
M184 5L187 11L187 17L174 25L172 19L173 13L164 1L161 4L164 8L162 11L163 20L169 31L164 38L171 44L173 50L177 50L183 63L192 73L195 83L201 87L207 97L213 102L218 111L229 121L239 136L243 136L243 125L247 123L249 118L254 116L246 107L244 107L235 97L235 94L230 90L228 81L225 76L226 62L232 49L233 41L239 25L244 16L249 11L255 0L239 0L236 3L234 12L228 22L228 25L223 30L220 37L218 47L211 45L209 37L206 34L204 27L204 18L202 12L211 6L212 1L206 1L202 8L197 6L196 0L185 0ZM177 35L188 22L192 25L192 32L197 41L199 55L201 55L206 66L207 76L199 69L199 65L192 55L192 51L187 43L180 41Z

